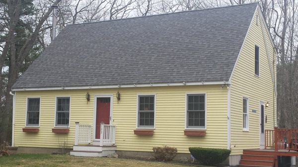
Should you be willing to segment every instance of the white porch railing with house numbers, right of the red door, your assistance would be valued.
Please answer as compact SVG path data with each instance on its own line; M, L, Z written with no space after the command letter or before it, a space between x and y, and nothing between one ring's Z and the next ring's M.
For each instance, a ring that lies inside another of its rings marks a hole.
M99 146L115 145L115 125L105 125L100 123L100 142Z

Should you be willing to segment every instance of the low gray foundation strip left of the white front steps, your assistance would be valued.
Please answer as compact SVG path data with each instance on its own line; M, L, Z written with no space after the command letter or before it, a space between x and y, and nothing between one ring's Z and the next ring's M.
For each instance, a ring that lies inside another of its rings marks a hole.
M45 147L18 147L16 153L36 153L36 154L66 154L73 149L45 148Z

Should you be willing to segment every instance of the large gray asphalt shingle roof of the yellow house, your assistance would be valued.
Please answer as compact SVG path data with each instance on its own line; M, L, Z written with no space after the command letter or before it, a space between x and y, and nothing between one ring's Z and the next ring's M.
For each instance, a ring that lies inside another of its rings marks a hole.
M228 80L256 7L68 25L13 88Z

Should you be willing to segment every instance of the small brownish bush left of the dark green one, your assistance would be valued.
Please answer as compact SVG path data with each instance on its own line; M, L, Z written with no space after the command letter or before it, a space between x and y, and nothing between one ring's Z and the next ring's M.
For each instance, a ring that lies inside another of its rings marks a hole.
M153 147L153 157L157 161L172 161L177 155L177 149L175 147Z

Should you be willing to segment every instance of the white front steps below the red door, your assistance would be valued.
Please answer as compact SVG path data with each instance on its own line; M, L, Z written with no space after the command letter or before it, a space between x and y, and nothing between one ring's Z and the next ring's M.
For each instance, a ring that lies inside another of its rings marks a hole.
M72 156L77 157L106 157L116 153L116 146L74 145Z

